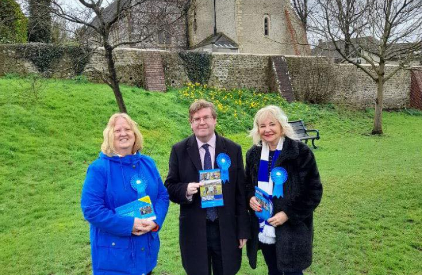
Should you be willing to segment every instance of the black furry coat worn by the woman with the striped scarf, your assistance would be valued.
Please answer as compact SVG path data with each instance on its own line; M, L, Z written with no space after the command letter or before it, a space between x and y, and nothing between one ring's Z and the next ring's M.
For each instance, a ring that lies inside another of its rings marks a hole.
M259 161L262 147L252 146L246 154L247 200L255 195L258 184ZM275 167L287 170L287 181L283 184L284 197L274 198L274 213L284 211L288 220L276 227L277 267L284 272L304 270L312 263L312 242L314 236L313 212L322 197L322 184L314 154L302 143L285 138L283 150ZM256 268L258 251L258 218L249 208L252 239L247 243L249 264Z

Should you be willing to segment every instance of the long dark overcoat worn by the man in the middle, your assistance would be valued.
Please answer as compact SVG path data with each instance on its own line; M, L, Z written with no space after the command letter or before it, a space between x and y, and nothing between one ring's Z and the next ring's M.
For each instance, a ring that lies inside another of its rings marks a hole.
M224 206L217 207L217 210L223 272L232 275L237 273L242 262L238 239L250 237L242 148L218 134L216 137L216 158L220 153L226 153L231 159L230 182L223 184ZM218 168L217 161L215 168ZM204 275L208 272L206 210L201 208L199 192L193 196L192 201L186 198L188 183L199 182L199 170L202 170L202 164L194 135L173 145L165 186L170 200L180 204L180 253L183 267L189 275Z

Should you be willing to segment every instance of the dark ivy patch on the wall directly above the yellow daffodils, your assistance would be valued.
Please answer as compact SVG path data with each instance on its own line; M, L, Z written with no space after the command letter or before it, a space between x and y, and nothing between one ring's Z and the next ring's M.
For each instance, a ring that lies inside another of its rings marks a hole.
M186 73L192 82L206 84L211 75L212 55L208 52L179 52Z

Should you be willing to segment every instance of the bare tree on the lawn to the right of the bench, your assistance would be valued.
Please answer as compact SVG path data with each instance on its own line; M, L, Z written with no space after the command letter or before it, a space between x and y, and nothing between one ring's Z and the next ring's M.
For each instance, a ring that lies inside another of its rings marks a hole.
M372 134L381 134L384 84L422 50L422 1L318 0L318 7L312 30L376 82ZM392 61L398 66L387 71Z

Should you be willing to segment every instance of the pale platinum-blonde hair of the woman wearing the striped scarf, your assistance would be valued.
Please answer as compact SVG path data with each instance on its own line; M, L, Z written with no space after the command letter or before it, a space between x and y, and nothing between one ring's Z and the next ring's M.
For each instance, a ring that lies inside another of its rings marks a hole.
M274 118L280 123L282 135L287 136L292 140L298 140L293 128L288 123L287 116L284 114L281 108L275 105L268 105L259 109L259 111L255 114L254 127L249 132L249 136L252 137L252 141L255 145L261 145L261 135L259 134L259 122L268 117Z

